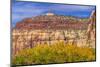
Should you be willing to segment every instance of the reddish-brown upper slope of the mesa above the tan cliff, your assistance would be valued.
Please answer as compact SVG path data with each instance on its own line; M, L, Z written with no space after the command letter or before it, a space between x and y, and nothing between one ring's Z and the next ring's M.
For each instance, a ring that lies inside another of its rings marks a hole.
M26 18L16 24L16 29L87 29L87 22L80 21L79 18L66 16L36 16Z

